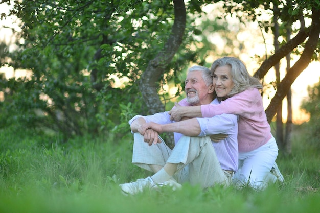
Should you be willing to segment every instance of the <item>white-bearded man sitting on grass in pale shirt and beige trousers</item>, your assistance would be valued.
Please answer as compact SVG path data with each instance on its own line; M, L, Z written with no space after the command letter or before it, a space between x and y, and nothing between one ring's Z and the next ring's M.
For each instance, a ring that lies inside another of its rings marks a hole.
M207 67L189 68L185 81L188 102L193 106L219 104L215 98L212 76ZM135 182L120 184L125 194L136 194L145 188L169 185L180 188L190 182L206 188L229 185L238 168L238 117L222 114L211 118L194 118L174 122L168 112L136 115L130 121L134 133L132 163L154 172ZM171 150L158 134L174 132ZM227 134L219 143L208 135Z

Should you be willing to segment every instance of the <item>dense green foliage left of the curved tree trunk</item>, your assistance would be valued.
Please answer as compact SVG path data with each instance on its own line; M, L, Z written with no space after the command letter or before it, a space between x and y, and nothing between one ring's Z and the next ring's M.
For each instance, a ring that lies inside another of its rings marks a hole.
M33 75L1 82L7 88L2 107L10 115L2 126L40 124L70 137L109 132L122 123L119 105L138 103L131 105L135 113L148 112L138 102L135 82L168 38L171 1L4 2L12 6L8 15L21 19L22 32L16 36L24 38L11 65L31 69ZM159 79L159 89L180 82L177 73L194 57L181 49ZM124 79L125 88L118 88L117 78Z

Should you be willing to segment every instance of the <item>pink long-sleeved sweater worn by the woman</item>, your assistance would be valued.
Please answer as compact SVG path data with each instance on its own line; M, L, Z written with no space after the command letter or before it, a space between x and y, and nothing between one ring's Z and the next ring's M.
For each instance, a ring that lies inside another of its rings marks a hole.
M186 105L181 101L181 105ZM239 152L249 152L266 144L272 137L270 125L258 89L247 89L217 105L201 105L202 117L218 114L240 115L238 121Z

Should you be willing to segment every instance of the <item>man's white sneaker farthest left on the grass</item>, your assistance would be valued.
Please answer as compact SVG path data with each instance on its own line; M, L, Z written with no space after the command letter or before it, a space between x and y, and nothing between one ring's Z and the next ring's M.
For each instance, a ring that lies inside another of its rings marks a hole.
M153 185L153 180L150 177L147 177L145 179L138 179L132 183L123 183L119 186L124 194L134 195L136 193L143 192L145 188L151 188Z

